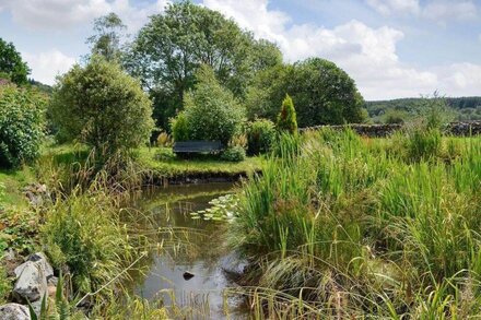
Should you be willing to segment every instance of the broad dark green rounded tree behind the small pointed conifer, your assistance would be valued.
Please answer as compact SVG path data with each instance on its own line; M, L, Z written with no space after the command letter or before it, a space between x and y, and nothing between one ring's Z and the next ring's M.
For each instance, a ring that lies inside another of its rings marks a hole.
M249 118L274 120L285 93L296 106L300 127L363 120L363 98L354 81L330 61L310 58L259 72L246 99Z

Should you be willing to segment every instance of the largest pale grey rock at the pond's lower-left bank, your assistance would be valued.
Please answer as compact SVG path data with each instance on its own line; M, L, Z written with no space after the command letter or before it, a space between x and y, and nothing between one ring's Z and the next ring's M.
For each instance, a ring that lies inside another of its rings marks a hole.
M42 252L32 254L14 272L16 282L13 293L31 303L39 300L47 293L47 278L54 276L54 269Z

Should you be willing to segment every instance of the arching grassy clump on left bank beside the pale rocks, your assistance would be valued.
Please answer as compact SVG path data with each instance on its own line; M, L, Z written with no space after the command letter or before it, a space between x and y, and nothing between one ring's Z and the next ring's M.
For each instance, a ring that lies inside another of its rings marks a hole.
M52 265L67 265L75 292L89 293L118 275L131 258L120 210L104 191L72 191L46 215L42 242Z

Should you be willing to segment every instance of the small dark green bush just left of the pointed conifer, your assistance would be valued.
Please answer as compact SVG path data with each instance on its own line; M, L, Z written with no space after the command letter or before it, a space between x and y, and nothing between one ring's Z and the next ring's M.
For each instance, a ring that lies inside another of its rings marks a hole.
M256 120L247 128L247 153L249 155L268 153L274 140L274 123L267 119Z

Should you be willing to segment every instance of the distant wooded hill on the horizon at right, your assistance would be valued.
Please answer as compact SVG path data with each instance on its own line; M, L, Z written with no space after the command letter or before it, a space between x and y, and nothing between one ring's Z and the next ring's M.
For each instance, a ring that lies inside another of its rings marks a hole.
M456 120L481 120L481 96L447 97ZM422 98L401 98L392 100L366 102L365 108L374 122L396 122L419 114Z

